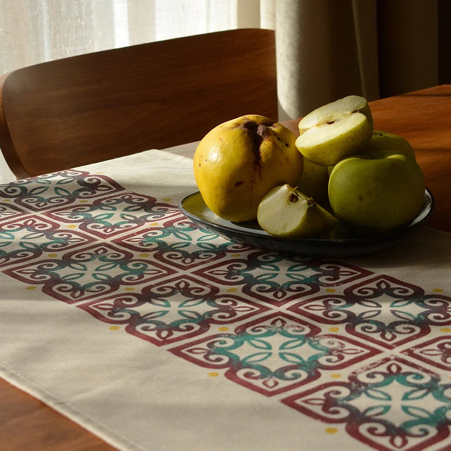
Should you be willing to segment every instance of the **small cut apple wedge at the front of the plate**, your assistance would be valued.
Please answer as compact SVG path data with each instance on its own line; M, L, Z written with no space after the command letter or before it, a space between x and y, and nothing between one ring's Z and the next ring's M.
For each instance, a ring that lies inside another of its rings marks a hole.
M337 219L288 184L271 189L260 202L257 220L271 235L288 238L322 238Z

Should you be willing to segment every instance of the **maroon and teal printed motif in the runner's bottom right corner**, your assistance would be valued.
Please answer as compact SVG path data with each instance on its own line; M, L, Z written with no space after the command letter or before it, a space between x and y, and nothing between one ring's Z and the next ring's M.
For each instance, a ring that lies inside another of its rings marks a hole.
M386 358L283 402L326 422L345 422L348 433L377 449L424 449L449 435L451 384L400 358Z

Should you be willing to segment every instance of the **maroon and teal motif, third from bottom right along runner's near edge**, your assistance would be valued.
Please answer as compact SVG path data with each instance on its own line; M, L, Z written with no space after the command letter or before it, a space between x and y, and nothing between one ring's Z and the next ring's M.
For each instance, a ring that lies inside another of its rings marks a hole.
M258 315L268 307L245 301L189 275L79 305L94 317L125 324L126 331L157 346L204 334L212 325Z

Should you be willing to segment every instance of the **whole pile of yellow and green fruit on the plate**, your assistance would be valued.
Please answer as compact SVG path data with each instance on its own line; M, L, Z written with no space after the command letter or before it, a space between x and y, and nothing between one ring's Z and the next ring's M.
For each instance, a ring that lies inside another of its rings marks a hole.
M208 208L293 238L386 236L421 210L424 179L411 145L374 130L363 97L312 111L299 132L246 115L207 133L193 167Z

